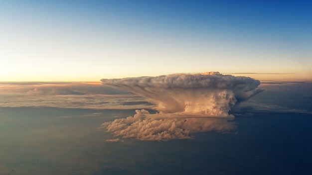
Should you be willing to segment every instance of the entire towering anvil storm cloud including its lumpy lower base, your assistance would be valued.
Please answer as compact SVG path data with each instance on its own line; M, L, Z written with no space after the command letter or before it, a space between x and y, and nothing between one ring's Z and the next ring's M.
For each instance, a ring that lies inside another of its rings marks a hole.
M156 105L159 113L141 110L134 117L103 124L115 136L141 140L182 139L192 132L231 130L235 128L228 123L234 119L228 113L231 107L261 91L258 80L218 72L101 81L144 96Z

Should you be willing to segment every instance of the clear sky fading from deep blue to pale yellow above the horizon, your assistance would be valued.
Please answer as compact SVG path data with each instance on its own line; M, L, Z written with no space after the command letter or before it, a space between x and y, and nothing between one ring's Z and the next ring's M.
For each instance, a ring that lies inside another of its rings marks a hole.
M0 26L0 81L312 80L310 0L1 0Z

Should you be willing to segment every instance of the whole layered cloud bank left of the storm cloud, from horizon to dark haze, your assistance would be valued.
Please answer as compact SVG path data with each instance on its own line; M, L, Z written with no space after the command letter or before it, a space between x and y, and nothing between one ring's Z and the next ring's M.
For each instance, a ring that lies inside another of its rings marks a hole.
M0 107L60 107L92 109L151 108L130 92L77 82L1 82Z

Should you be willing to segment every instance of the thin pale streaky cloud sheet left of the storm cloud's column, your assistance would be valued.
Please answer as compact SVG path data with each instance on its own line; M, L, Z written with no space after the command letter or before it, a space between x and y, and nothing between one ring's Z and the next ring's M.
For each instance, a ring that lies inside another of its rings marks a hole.
M1 99L1 98L0 98ZM144 100L136 95L29 95L13 96L0 100L0 107L59 107L59 108L89 108L89 109L140 109L152 108L154 105L138 103ZM124 103L134 105L125 105Z

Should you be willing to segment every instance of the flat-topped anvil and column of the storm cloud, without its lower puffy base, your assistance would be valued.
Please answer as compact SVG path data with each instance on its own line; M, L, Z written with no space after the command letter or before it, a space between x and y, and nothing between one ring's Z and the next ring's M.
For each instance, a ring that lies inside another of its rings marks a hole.
M158 77L102 79L102 84L131 91L148 98L163 113L186 112L227 116L237 100L260 92L260 81L217 72L174 74Z

